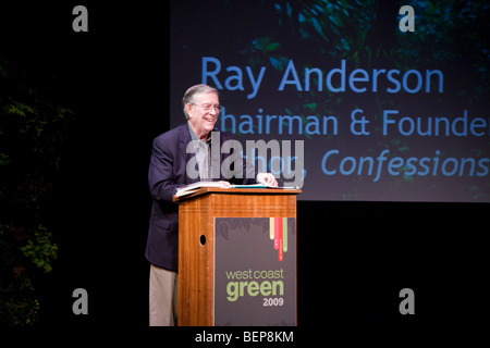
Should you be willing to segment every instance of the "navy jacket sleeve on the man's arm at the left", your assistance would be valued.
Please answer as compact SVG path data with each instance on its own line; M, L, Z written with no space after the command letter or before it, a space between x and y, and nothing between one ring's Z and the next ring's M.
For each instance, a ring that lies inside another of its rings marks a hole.
M148 171L148 184L151 197L155 200L172 202L172 196L184 184L177 184L174 175L175 151L166 146L166 141L158 137L154 140L150 165Z

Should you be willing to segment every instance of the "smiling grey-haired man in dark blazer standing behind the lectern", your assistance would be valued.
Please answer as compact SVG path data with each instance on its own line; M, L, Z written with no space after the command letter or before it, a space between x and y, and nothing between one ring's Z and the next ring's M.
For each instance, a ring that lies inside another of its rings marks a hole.
M211 137L221 110L217 89L207 85L193 86L185 92L182 103L187 122L155 138L148 172L154 202L145 254L150 262L151 326L172 326L176 321L179 207L172 202L172 196L179 187L217 179L212 166L219 165L225 154L220 151L220 158L213 159L210 146L213 139L218 141L219 138L220 144L212 146L221 148L221 144L230 139L224 133L220 133L220 137ZM189 175L186 171L192 159L195 160L193 163L197 163L198 175ZM243 169L234 169L235 172L242 171L242 175L232 177L232 183L254 184L257 181L278 186L270 173L258 173L255 179L247 178L250 167L247 167L246 161L243 163ZM255 174L255 169L252 170ZM223 173L220 173L219 179L225 181Z

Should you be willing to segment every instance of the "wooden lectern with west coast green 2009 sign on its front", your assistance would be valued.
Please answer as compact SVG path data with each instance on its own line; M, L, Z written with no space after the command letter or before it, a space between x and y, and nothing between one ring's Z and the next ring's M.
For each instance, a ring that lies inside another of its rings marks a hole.
M180 326L296 325L299 192L200 188L174 197Z

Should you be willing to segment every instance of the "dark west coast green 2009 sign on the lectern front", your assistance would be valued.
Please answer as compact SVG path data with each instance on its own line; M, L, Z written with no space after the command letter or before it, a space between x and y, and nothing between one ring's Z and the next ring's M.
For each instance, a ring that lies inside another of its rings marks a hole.
M294 217L215 217L215 325L295 325Z

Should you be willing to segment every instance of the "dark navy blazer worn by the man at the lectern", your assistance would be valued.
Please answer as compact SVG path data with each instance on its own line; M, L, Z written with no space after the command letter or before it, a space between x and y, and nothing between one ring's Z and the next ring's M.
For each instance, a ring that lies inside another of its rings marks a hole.
M220 132L220 149L221 145L231 138L230 135ZM172 196L179 187L199 181L186 175L187 162L195 156L186 153L191 133L187 124L155 138L148 171L148 184L154 202L145 256L150 263L175 272L179 261L179 206L172 202ZM221 154L220 151L220 163L228 156L230 154ZM246 161L243 163L243 178L225 179L221 173L220 179L234 184L255 184L255 178L246 178Z

